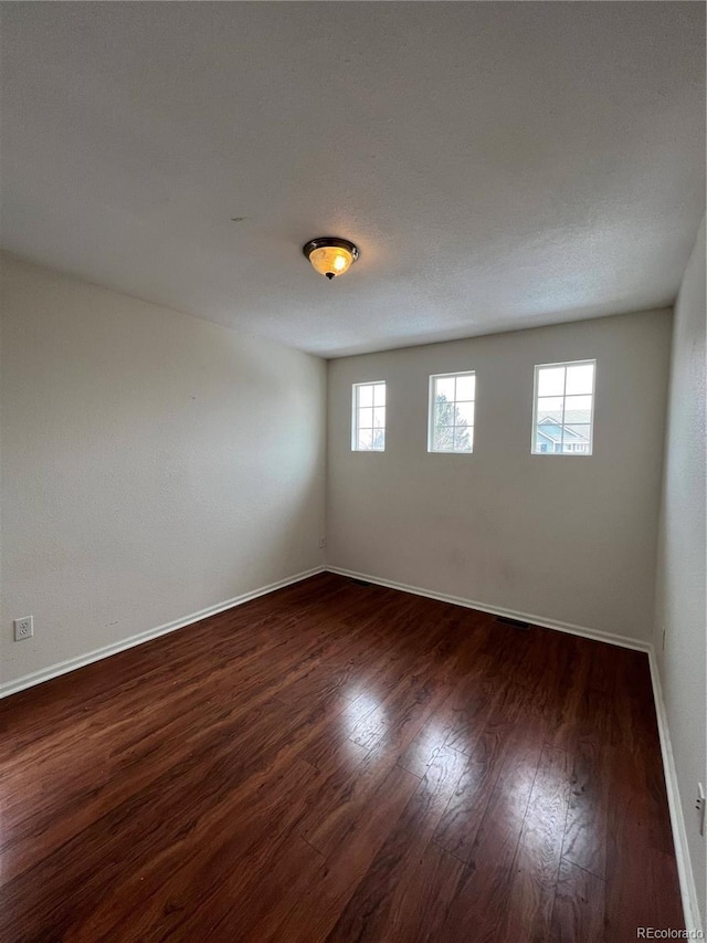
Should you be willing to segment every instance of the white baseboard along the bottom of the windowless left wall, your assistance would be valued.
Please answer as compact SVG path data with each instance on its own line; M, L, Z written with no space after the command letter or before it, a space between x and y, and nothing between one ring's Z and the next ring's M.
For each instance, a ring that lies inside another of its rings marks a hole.
M33 688L35 684L41 684L43 681L49 681L52 678L59 678L60 674L66 674L70 671L75 671L77 668L83 668L85 664L91 664L94 661L101 661L102 658L108 658L112 654L117 654L119 651L125 651L128 648L150 639L166 636L168 632L175 632L177 629L183 629L186 626L205 619L208 616L215 616L218 612L223 612L225 609L231 609L234 606L242 606L243 603L249 603L251 599L257 599L258 596L266 596L268 593L274 593L276 589L282 589L285 586L291 586L293 583L299 583L307 579L309 576L316 576L318 573L324 573L324 566L317 566L313 569L307 569L304 573L297 573L294 576L288 576L285 579L278 579L277 583L271 583L267 586L261 586L258 589L253 589L251 593L243 593L241 596L234 596L233 599L226 599L224 603L217 603L215 606L208 606L199 612L192 612L190 616L184 616L182 619L175 619L171 622L166 622L163 626L158 626L156 629L148 629L146 632L139 632L136 636L129 636L120 641L112 645L97 648L86 654L81 654L77 658L70 658L66 661L60 661L56 664L51 664L49 668L42 668L40 671L33 671L31 674L24 674L22 678L17 678L14 681L8 681L0 684L0 698L8 698L10 694L15 694L18 691L23 691L25 688Z

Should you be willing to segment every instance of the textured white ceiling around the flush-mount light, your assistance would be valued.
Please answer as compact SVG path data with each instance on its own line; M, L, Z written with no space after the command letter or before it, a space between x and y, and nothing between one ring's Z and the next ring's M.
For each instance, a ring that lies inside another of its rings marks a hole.
M704 213L703 3L2 21L4 248L313 353L669 304ZM361 250L334 282L325 234Z

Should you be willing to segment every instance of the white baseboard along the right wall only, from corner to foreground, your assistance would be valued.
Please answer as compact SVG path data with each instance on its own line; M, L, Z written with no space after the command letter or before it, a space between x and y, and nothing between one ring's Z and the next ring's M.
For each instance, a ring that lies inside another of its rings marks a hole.
M661 673L658 671L655 650L651 647L648 652L651 662L651 680L653 681L653 700L655 701L655 714L658 722L658 735L661 737L661 754L663 755L663 772L665 773L665 788L667 790L667 804L671 810L671 825L673 827L673 844L675 845L675 860L677 861L677 873L680 882L683 897L683 911L685 913L685 929L693 931L695 939L701 940L703 921L697 901L697 887L695 884L695 872L689 857L689 845L687 844L687 830L683 815L679 787L677 785L677 771L671 744L671 732L667 725L665 702L663 700L663 688L661 687Z

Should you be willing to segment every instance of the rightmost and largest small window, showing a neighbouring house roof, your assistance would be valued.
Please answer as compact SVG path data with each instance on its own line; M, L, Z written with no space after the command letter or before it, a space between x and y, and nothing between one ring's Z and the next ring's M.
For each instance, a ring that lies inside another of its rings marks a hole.
M535 368L534 455L591 455L597 360Z

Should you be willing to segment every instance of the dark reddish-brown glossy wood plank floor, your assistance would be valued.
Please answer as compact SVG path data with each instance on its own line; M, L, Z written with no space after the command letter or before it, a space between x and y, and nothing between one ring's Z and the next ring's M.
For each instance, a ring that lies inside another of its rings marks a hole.
M639 652L323 575L0 721L3 943L684 926Z

